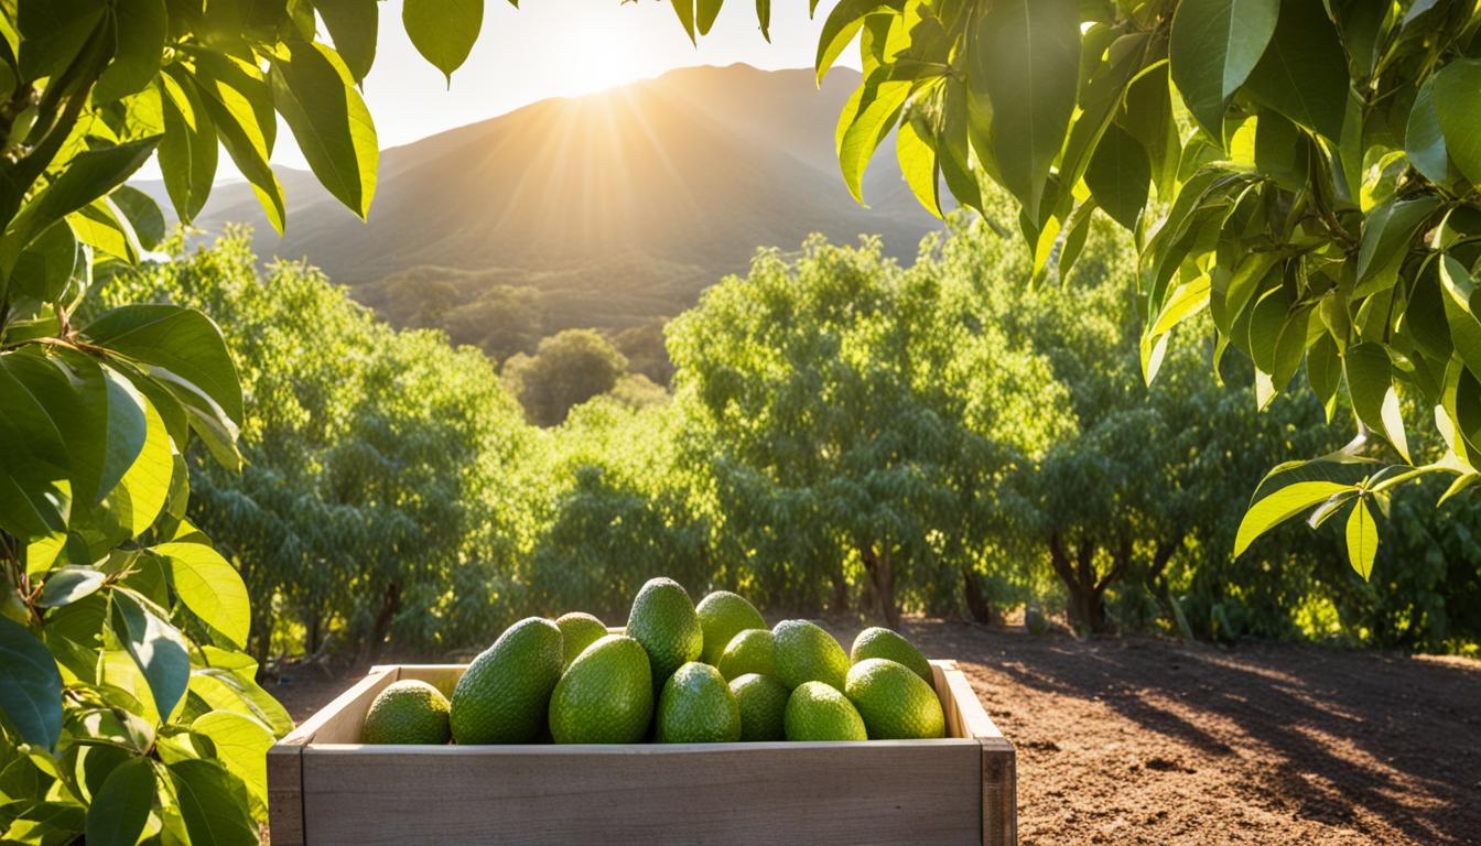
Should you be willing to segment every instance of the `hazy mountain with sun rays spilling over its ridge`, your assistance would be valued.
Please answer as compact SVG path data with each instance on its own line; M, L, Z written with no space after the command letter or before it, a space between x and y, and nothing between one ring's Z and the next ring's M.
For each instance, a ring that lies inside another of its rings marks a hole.
M865 179L871 207L838 175L834 124L857 83L847 68L820 89L809 70L677 70L387 150L366 222L283 169L284 237L244 184L219 185L197 227L250 222L259 253L308 258L392 322L447 326L498 357L567 326L615 333L693 305L758 246L792 250L813 231L880 234L914 256L939 222L900 179L893 139ZM481 338L484 323L511 323L514 301L538 319L533 341Z

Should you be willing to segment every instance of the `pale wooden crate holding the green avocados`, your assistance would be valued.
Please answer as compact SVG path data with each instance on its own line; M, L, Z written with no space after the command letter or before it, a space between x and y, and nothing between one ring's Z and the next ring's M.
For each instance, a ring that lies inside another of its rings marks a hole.
M376 667L268 753L273 846L1012 846L1013 745L952 661L932 661L936 741L361 745Z

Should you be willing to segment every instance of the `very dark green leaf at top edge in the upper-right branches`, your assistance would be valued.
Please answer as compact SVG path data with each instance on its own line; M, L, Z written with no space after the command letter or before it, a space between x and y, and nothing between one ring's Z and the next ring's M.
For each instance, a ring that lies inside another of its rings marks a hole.
M1250 71L1244 90L1337 144L1348 89L1348 56L1323 0L1281 3L1275 36Z

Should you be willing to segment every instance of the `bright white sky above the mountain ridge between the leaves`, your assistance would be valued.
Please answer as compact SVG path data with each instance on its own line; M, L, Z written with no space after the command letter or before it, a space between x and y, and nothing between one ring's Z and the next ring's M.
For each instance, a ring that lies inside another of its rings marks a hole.
M666 0L486 0L483 33L447 89L401 28L401 0L381 3L375 67L363 93L381 148L465 126L549 96L581 95L690 65L746 62L767 70L812 67L818 31L832 3L807 18L803 0L772 6L772 43L761 39L751 0L729 0L714 28L689 43ZM323 30L321 30L323 31ZM857 67L846 50L841 64ZM287 126L278 126L275 164L307 167ZM151 161L139 172L157 179ZM218 181L240 179L222 151Z

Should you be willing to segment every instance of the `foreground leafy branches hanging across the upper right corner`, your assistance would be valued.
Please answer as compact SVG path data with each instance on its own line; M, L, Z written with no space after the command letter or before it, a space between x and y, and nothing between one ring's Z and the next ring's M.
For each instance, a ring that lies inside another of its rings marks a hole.
M1357 439L1272 470L1235 551L1342 514L1367 578L1395 486L1447 474L1442 501L1481 479L1478 28L1447 0L840 0L816 70L857 37L837 130L856 197L893 130L927 209L942 182L983 212L979 178L1014 197L1035 276L1074 262L1096 209L1131 230L1149 382L1207 313L1260 407L1303 362L1328 415L1351 399ZM1408 447L1405 397L1442 449Z

